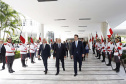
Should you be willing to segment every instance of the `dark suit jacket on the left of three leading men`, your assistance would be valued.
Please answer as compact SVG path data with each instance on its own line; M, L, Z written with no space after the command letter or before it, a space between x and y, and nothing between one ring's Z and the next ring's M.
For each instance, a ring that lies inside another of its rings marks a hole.
M43 49L43 44L41 44L40 47L39 47L38 55L40 55L40 53L41 53L42 58L50 57L51 56L51 54L50 54L50 46L48 44L46 44L45 48Z

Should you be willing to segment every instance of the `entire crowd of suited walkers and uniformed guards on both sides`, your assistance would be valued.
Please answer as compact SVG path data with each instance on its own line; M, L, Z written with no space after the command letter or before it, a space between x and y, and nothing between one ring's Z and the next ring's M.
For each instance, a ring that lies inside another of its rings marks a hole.
M65 71L65 63L64 58L70 57L74 61L74 76L77 76L77 62L79 63L79 71L81 71L82 61L85 60L85 57L88 58L88 53L90 50L89 43L84 41L84 39L79 40L78 35L74 35L74 41L70 40L69 42L61 43L60 38L56 38L55 42L51 42L47 44L46 39L40 40L37 42L28 42L25 44L21 41L19 43L19 50L21 56L22 67L28 67L26 65L26 61L30 58L31 63L35 63L35 57L38 60L42 60L45 67L45 74L48 72L48 58L51 57L51 50L53 51L53 59L56 59L57 68L56 74L59 75L60 72L60 61L62 63L63 71ZM3 62L2 70L5 69L5 64L7 64L8 72L13 73L13 61L15 57L15 47L12 44L12 38L8 37L7 42L4 43L3 40L0 40L0 59ZM96 39L92 42L92 50L93 54L95 54L95 50L97 53L97 58L101 59L101 55L103 56L102 62L105 61L106 54L108 56L108 64L107 66L111 66L112 57L114 56L114 60L116 62L116 68L114 69L116 72L120 70L120 58L122 56L122 43L119 42L118 38L115 38L115 43L111 41L111 38L108 38L108 42L106 40L101 41L100 39ZM69 53L68 53L69 52Z

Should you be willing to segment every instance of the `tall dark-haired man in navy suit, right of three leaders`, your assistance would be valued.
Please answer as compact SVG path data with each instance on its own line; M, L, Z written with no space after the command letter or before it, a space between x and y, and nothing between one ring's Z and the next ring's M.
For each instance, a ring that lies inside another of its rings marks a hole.
M79 62L79 71L81 71L82 57L84 57L84 47L81 41L78 41L78 35L74 35L72 43L72 58L74 58L74 76L77 76L77 62Z

